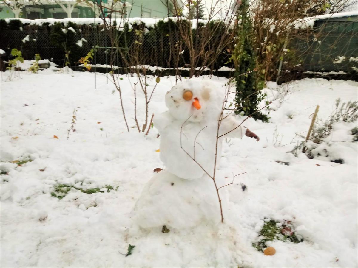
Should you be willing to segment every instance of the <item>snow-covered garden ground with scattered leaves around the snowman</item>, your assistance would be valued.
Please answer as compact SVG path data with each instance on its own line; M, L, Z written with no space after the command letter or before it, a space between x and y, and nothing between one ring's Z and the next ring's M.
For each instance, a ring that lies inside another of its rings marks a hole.
M267 90L274 100L271 123L245 122L260 142L223 142L221 179L230 183L233 174L247 172L220 190L228 194L224 223L162 233L134 221L153 169L164 168L158 131L145 136L135 128L130 84L137 78L119 80L127 133L118 92L103 74L97 74L97 89L87 72L21 72L21 79L4 82L8 75L2 73L1 81L1 171L7 173L1 175L2 267L357 267L357 143L345 145L348 131L333 141L349 155L345 164L287 153L299 140L294 133L306 134L315 106L326 119L337 98L357 100L357 82L294 81L283 102L275 99L285 86L269 83L277 90ZM155 77L147 83L153 89ZM166 110L164 95L174 84L172 76L161 78L150 115ZM143 103L137 90L140 125ZM76 131L67 140L74 109ZM51 193L59 184L77 189L58 199ZM93 188L102 192L80 190ZM270 242L276 254L263 255L252 243L265 219L291 220L304 242ZM125 257L129 244L136 247Z

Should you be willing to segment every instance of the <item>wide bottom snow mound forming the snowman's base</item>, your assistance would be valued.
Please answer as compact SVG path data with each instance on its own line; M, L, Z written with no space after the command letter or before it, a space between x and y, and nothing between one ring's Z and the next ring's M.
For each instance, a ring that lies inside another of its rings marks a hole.
M220 222L220 208L211 178L188 180L161 170L145 185L136 203L136 220L143 228L187 228Z

